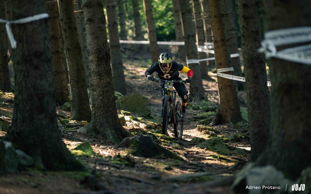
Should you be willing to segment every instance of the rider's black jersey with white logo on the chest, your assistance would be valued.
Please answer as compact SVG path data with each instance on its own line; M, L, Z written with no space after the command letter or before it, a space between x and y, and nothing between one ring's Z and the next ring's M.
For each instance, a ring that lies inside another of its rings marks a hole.
M168 73L164 73L163 70L161 69L159 62L154 63L151 65L151 67L146 70L145 75L151 75L154 72L157 72L159 75L160 79L167 79L167 80L173 80L173 79L178 79L179 78L179 72L183 70L183 65L177 63L176 61L172 62L172 66L169 69Z

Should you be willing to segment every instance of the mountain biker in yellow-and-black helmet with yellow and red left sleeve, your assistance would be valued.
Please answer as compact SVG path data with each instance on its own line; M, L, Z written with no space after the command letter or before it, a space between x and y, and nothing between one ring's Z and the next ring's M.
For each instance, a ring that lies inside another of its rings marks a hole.
M179 72L182 71L184 73L187 73L188 78L185 80L186 83L191 82L191 78L193 75L192 70L189 68L185 67L182 64L177 63L176 61L172 60L172 56L164 52L160 54L159 56L159 61L151 65L151 67L146 70L145 75L148 78L148 80L153 81L154 77L151 76L154 72L158 73L158 76L160 79L165 79L165 80L182 80L179 77ZM186 115L186 106L188 102L188 90L185 86L184 83L174 83L174 88L178 93L178 96L181 97L181 104L182 104L182 112L181 112L181 121L185 121L187 118ZM161 93L163 95L164 92L164 83L161 83Z

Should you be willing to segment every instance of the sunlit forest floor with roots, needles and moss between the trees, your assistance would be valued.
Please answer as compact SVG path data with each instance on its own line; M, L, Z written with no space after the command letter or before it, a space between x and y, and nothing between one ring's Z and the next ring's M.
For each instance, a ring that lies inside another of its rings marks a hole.
M63 141L67 147L82 142L90 143L96 154L72 152L86 163L90 172L43 172L28 169L14 174L2 174L0 193L234 193L230 183L234 174L248 160L250 152L247 122L210 128L230 148L230 153L225 154L209 147L195 147L212 138L207 131L197 130L197 125L204 124L205 119L212 117L218 106L217 83L204 80L207 101L188 103L188 121L184 123L183 140L173 138L172 127L169 127L169 137L158 134L161 121L160 84L146 79L144 72L148 67L146 62L125 61L128 93L139 92L147 96L153 113L151 117L125 114L127 126L124 128L135 135L151 135L157 143L182 159L132 156L126 148L117 148L100 137L86 137L77 133L81 126L73 124L67 128L60 127ZM211 75L216 79L216 74ZM181 77L185 79L186 74L181 73ZM13 93L0 95L0 117L9 123L12 123L13 100ZM239 92L239 100L242 114L247 119L245 91ZM59 107L58 111L61 111ZM70 117L70 112L62 112L65 113L63 117ZM58 124L61 126L59 121ZM145 129L146 125L152 125L152 128ZM6 132L0 131L1 138L5 134ZM237 152L240 150L237 148L242 151ZM99 182L92 179L81 181L91 175ZM96 192L98 187L105 190Z

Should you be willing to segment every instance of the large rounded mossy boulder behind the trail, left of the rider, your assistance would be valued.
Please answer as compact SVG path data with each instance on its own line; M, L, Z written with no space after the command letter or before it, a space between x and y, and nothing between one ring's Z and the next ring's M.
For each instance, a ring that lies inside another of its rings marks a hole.
M151 103L146 96L140 93L130 93L120 97L116 106L122 110L130 111L137 115L147 116L151 113Z

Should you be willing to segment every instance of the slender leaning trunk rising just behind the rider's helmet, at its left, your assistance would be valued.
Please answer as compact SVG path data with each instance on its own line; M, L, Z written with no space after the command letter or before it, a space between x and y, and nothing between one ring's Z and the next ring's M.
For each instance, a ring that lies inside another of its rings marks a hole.
M149 37L149 47L150 47L150 55L152 63L156 63L159 61L159 50L158 50L158 43L156 38L156 29L155 29L155 23L153 20L152 15L152 6L151 6L151 0L143 0L144 4L144 11L146 16L146 25L147 25L147 33Z

